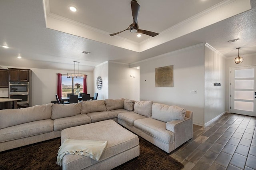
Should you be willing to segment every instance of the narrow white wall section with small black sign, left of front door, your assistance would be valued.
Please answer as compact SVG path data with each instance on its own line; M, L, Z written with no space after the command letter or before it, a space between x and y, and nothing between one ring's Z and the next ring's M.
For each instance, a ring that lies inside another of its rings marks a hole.
M226 59L208 44L204 52L204 124L226 112ZM214 86L221 83L221 86Z

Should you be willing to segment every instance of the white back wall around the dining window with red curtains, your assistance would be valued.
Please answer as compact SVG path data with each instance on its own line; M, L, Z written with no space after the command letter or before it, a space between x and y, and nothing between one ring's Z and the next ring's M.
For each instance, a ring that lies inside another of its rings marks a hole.
M32 70L32 106L42 105L55 101L55 94L57 93L57 75L56 73L66 74L67 72L74 72L74 70L53 70L53 69L37 69L28 67L12 67L12 66L0 66L3 69L9 68L21 68ZM94 77L92 72L86 72L87 76L87 93L93 94L93 81Z

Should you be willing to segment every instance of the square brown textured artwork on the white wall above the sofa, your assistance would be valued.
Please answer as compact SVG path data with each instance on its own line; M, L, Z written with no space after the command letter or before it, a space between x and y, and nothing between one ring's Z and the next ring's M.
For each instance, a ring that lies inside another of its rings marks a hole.
M155 68L156 87L173 87L173 65Z

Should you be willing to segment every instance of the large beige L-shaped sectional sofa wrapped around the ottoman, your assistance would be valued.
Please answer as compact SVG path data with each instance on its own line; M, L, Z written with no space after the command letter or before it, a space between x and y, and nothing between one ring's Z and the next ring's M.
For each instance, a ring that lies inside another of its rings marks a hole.
M170 153L192 138L192 112L152 101L106 99L0 110L0 152L60 137L61 130L112 119Z

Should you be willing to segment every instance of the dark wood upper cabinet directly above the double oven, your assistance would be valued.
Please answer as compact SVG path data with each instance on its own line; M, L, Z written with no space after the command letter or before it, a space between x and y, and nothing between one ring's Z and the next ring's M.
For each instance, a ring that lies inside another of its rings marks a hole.
M29 70L9 68L10 81L29 81Z

